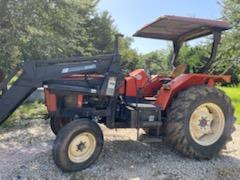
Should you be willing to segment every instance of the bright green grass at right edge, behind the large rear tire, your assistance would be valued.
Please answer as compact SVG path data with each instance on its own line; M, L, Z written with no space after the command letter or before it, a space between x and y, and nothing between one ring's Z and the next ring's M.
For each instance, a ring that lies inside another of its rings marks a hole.
M235 107L235 116L237 117L237 124L240 124L240 86L239 87L221 87L232 100Z

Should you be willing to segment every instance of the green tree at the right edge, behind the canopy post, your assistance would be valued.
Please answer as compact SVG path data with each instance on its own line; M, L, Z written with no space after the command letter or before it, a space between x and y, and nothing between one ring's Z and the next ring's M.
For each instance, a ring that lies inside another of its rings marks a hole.
M212 72L231 74L233 83L240 82L240 2L239 0L223 0L223 19L230 22L232 29L226 33L221 41L217 61Z

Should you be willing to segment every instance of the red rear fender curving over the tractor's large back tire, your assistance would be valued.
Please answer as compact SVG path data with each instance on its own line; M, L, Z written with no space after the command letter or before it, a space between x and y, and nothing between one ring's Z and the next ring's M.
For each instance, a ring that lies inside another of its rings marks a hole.
M217 76L209 74L182 74L173 79L171 82L163 85L157 95L156 104L160 106L162 110L165 110L170 104L172 97L176 95L179 91L197 85L214 86L217 82L230 83L231 76Z

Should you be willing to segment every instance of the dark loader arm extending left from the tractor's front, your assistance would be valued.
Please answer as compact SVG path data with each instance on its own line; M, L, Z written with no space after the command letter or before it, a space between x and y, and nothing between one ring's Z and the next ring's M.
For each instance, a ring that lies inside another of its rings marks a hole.
M24 62L0 84L0 90L2 91L0 97L0 124L2 124L34 90L47 85L48 81L58 80L72 74L104 74L105 80L107 80L108 76L117 77L119 75L119 60L119 55L109 54L95 57ZM14 76L18 76L18 79L9 87L9 83ZM90 87L88 89L73 86L72 89L80 92L86 90L95 94L103 93L102 89L91 91Z

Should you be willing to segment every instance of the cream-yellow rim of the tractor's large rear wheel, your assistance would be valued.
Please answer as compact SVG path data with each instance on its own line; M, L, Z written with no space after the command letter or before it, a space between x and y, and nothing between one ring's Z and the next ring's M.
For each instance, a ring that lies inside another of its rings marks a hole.
M205 103L198 106L192 113L189 122L193 140L202 146L214 144L221 137L224 126L224 113L214 103Z

